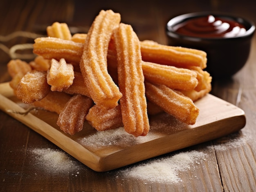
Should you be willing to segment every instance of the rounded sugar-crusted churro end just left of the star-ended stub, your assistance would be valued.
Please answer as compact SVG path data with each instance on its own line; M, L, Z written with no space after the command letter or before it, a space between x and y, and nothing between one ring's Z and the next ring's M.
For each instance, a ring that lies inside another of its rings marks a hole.
M17 96L23 103L40 101L49 93L51 87L47 84L46 76L45 71L33 70L22 77L17 86Z

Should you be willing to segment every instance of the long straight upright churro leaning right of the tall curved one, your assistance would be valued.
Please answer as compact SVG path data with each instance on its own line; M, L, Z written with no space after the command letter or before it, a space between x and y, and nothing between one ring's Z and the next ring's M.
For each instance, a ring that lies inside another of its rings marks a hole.
M123 23L114 31L114 39L124 129L135 137L147 135L149 122L139 39L132 27Z

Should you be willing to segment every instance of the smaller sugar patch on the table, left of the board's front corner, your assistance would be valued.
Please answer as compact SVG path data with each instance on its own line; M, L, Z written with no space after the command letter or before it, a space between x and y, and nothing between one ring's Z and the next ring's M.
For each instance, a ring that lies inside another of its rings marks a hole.
M31 150L36 159L36 164L40 165L47 172L78 172L79 166L75 161L61 150L50 148L35 148Z

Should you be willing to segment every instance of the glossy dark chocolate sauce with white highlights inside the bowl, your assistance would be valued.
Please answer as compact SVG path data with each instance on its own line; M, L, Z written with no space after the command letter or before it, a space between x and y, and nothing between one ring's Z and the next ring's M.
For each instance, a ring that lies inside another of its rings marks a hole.
M236 37L246 32L245 26L234 21L209 15L186 20L175 26L175 31L192 37Z

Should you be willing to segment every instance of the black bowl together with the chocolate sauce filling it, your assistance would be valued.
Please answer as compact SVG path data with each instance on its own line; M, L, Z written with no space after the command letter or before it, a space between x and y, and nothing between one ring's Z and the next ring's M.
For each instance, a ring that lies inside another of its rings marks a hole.
M230 78L246 64L255 25L224 13L188 13L166 25L168 44L207 53L206 70L213 78Z

